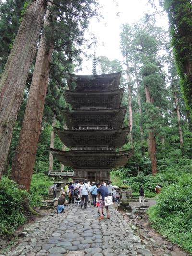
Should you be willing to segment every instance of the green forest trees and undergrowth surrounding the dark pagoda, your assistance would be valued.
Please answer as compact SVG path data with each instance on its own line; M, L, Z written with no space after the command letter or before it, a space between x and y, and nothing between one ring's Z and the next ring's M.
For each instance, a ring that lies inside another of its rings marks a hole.
M168 2L170 4L172 1L162 2L165 9ZM190 1L181 2L192 10ZM96 5L94 2L92 4ZM27 6L28 2L24 0L8 0L1 3L0 75ZM91 8L87 12L91 13ZM95 15L99 18L98 13ZM62 111L65 107L70 108L66 106L63 97L67 88L67 73L74 73L81 68L80 53L85 53L83 48L90 48L91 43L96 43L94 37L90 38L89 42L83 38L89 18L87 16L87 19L82 21L82 30L79 31L75 25L72 26L71 21L68 21L68 25L65 21L64 38L58 37L64 24L61 24L59 29L57 24L58 34L54 35L57 45L53 47L40 137L33 166L34 174L30 193L25 193L7 177L12 168L24 120L35 60L31 65L0 183L1 233L12 232L26 220L24 212L22 214L20 210L24 196L27 196L32 207L37 207L41 205L40 196L46 195L48 185L52 184L52 180L47 178L52 125L62 128L65 124ZM49 33L48 30L45 34L50 42L52 38L48 37ZM71 39L67 40L71 33ZM162 193L157 198L157 205L149 211L152 225L172 242L192 253L192 115L178 67L177 52L172 49L174 40L176 38L170 39L168 32L156 26L154 15L145 14L135 24L122 24L120 48L123 61L109 60L106 56L96 57L97 74L122 70L120 86L125 88L122 105L128 104L124 126L130 125L131 129L122 150L134 147L134 155L125 167L111 171L112 181L115 181L116 185L122 185L122 181L126 180L135 193L143 186L147 196L154 196L154 188L156 184L160 184ZM165 72L164 67L168 72ZM54 148L63 148L57 135ZM53 167L54 170L61 169L60 163L55 159ZM64 169L68 170L68 167ZM12 193L13 190L15 193ZM9 200L10 203L14 202L14 212L8 207Z

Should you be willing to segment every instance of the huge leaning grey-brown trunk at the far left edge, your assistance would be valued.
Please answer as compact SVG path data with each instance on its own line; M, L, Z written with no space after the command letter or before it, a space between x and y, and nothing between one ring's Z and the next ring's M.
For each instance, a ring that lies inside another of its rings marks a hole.
M45 12L43 0L27 8L0 80L0 178Z

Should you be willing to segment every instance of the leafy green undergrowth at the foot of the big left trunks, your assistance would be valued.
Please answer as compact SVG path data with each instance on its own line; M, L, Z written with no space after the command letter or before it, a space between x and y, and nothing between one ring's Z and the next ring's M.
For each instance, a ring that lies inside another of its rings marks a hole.
M48 187L53 181L43 174L32 178L30 193L18 188L18 185L7 177L0 181L0 235L10 234L27 220L26 200L31 207L42 205L41 195L48 194Z

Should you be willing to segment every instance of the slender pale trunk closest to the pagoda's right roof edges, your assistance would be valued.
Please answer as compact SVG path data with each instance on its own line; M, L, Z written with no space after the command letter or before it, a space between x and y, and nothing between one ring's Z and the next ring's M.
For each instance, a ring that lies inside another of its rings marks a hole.
M132 144L132 146L134 146L134 140L133 140L133 136L132 136L132 127L133 127L133 118L132 118L132 92L131 92L131 77L130 77L130 73L129 73L129 65L127 64L127 91L128 91L128 108L129 108L129 119L128 119L128 123L130 125L130 142Z

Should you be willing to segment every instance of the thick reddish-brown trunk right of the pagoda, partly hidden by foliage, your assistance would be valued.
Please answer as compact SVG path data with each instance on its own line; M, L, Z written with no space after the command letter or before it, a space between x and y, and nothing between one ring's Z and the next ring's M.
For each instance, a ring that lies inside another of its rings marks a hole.
M153 98L150 98L149 88L145 86L146 102L153 104ZM156 162L156 139L154 137L153 128L149 129L149 151L151 157L151 170L152 175L157 173L157 162Z

